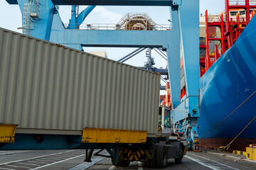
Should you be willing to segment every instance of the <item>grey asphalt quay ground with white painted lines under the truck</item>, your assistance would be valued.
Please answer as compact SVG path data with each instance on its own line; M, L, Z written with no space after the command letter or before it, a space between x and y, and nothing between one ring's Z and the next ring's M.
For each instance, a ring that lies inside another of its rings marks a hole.
M127 169L147 170L151 167L145 166L142 162L131 162L129 167L121 168L112 166L110 158L92 156L92 162L83 162L85 150L22 150L22 151L0 151L0 170L6 169ZM217 152L203 150L203 152L187 152L183 157L182 164L175 164L170 159L165 169L176 170L251 170L256 169L256 162L245 159L245 156L228 152Z

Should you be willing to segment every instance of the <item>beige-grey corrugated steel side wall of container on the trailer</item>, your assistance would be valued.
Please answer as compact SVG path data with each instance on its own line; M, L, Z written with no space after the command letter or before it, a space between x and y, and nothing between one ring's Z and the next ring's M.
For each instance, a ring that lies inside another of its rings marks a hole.
M160 75L0 28L0 123L148 130Z

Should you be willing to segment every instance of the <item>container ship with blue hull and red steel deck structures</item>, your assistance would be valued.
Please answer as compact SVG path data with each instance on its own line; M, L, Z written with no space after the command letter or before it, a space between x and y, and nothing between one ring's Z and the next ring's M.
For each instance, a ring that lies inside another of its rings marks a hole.
M200 48L201 147L233 141L228 151L245 151L256 143L255 8L255 1L225 0L224 14L206 11L206 40L201 38Z

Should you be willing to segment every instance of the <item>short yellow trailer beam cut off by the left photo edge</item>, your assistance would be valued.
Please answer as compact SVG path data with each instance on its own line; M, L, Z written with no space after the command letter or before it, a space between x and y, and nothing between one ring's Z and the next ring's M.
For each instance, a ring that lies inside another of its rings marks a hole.
M0 142L15 142L15 131L17 125L0 123Z

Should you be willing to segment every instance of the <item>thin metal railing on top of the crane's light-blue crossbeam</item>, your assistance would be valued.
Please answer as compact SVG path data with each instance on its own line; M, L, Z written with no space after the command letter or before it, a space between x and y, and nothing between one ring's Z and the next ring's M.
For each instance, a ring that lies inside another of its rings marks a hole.
M68 26L76 28L75 30L125 30L119 24L114 23L82 23L82 24L64 24L65 28ZM171 25L169 24L155 24L150 30L171 30Z

